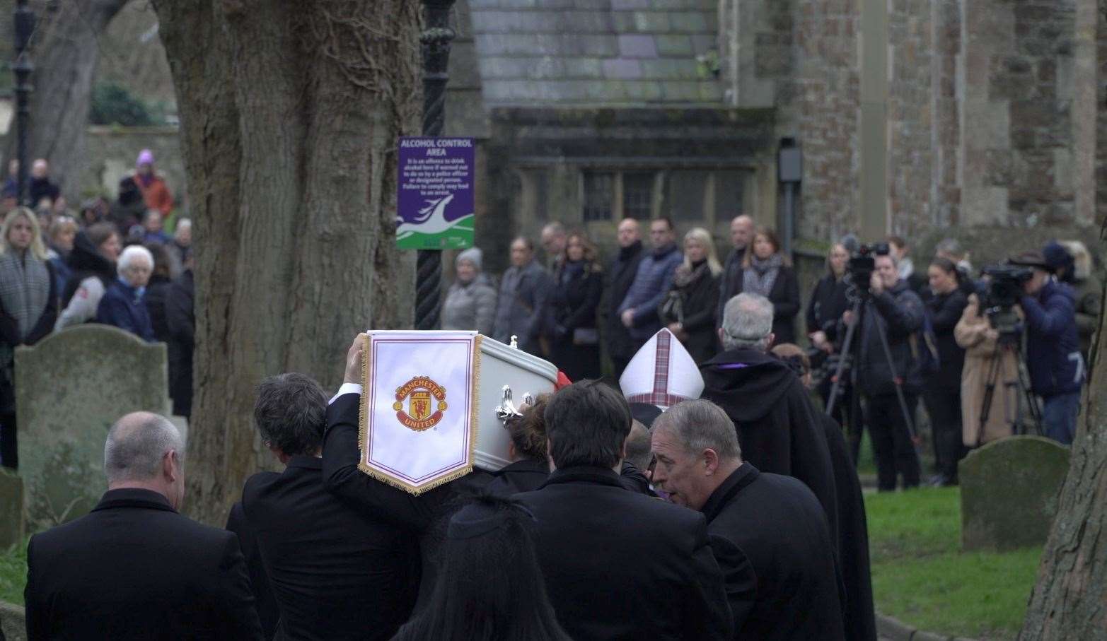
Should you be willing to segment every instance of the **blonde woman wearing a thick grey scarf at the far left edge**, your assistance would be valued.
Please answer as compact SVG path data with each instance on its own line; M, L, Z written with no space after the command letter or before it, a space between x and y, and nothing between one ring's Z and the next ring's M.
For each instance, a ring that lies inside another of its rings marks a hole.
M15 445L15 346L50 334L58 316L53 266L34 214L19 208L0 229L0 464L19 465Z

